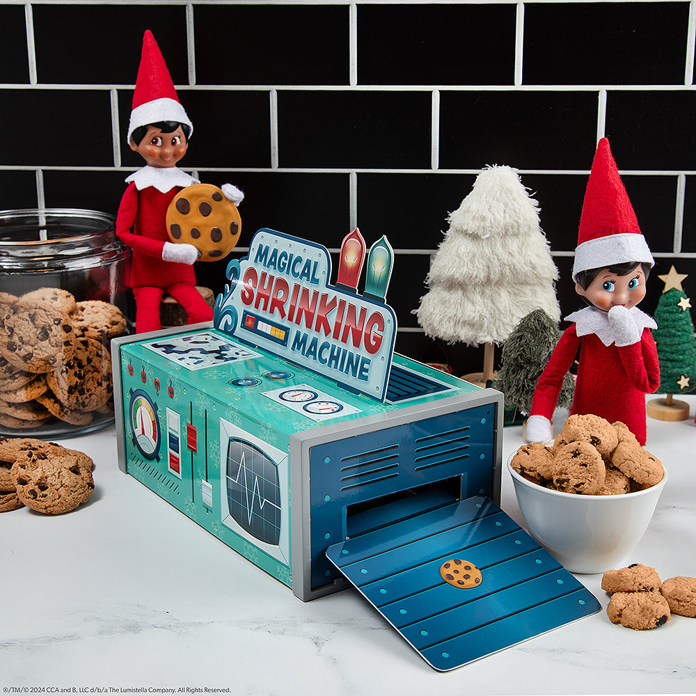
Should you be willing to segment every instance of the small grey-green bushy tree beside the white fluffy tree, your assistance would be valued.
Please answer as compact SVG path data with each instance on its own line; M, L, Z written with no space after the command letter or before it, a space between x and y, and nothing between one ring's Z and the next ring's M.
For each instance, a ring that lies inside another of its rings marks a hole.
M520 319L503 343L498 379L493 382L493 388L505 394L506 406L513 406L524 414L530 412L537 381L560 337L557 324L544 310L532 310ZM563 380L558 406L570 408L574 390L574 379L568 373Z

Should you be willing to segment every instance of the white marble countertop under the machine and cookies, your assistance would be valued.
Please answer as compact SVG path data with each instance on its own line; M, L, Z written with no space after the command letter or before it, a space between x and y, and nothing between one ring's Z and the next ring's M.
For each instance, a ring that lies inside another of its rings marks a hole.
M647 448L670 480L629 559L663 579L696 576L696 396L682 398L688 420L648 419ZM600 612L436 672L356 591L301 602L121 473L113 427L61 442L93 457L96 488L71 514L0 516L3 693L696 692L696 619L685 617L631 631ZM520 444L521 427L505 428L503 461ZM507 470L501 506L522 523ZM601 575L578 578L606 608Z

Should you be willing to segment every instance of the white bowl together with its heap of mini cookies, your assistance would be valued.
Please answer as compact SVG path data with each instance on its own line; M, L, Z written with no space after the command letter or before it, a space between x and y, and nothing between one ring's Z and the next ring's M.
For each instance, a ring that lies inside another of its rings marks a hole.
M622 422L570 416L553 443L507 462L525 526L572 573L603 573L638 544L667 483Z

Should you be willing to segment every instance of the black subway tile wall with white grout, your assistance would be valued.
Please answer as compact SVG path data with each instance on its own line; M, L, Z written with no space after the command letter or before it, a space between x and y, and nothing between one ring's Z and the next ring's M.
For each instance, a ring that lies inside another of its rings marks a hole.
M233 255L264 226L324 244L334 261L354 226L368 246L386 235L397 350L475 372L482 349L426 337L413 310L448 215L487 165L517 168L538 200L567 314L579 306L570 275L587 175L608 136L656 257L642 307L654 311L656 276L672 264L696 292L689 10L688 0L10 0L0 207L115 214L141 166L125 132L152 29L195 125L182 167L246 193ZM225 267L205 264L199 282L221 292Z

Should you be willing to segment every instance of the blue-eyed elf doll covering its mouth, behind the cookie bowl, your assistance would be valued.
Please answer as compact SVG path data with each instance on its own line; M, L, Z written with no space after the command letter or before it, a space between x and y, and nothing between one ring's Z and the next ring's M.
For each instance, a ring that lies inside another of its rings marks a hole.
M573 267L576 292L588 306L565 317L573 324L537 382L528 442L552 439L551 417L579 349L571 414L622 421L645 444L645 394L658 388L660 367L650 331L657 324L637 305L653 266L609 141L603 138L587 182Z

